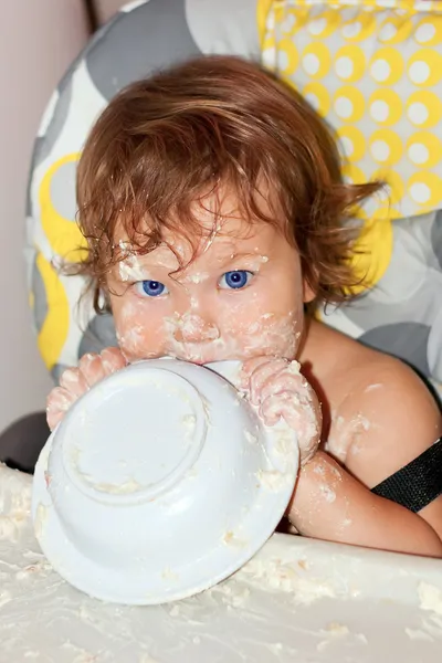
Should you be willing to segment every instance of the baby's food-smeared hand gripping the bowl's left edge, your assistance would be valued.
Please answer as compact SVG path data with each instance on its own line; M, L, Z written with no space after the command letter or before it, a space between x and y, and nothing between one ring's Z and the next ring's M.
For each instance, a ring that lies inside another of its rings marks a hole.
M101 355L84 355L77 368L67 368L60 378L60 387L48 397L46 418L51 431L85 391L126 365L119 348L106 348Z

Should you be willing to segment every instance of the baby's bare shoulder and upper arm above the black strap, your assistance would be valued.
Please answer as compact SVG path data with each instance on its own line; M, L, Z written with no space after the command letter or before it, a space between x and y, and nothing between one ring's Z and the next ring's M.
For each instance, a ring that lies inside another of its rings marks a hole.
M326 449L365 485L377 485L441 436L434 398L399 359L318 323L303 355L306 377L330 411Z

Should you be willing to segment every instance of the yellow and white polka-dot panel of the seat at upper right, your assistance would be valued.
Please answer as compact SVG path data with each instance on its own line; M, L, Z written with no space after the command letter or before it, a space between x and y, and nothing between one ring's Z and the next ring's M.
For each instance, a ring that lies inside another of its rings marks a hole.
M334 127L350 181L385 179L366 213L442 207L442 7L410 0L286 0L267 14L263 60Z

